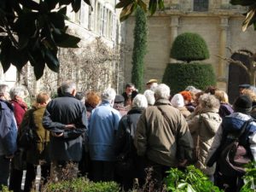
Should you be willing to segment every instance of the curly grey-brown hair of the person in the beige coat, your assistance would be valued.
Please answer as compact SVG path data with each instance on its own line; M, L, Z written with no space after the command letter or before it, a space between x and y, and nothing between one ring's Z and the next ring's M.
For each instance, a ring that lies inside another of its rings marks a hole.
M203 94L199 97L199 103L202 108L219 108L220 102L216 98L216 96L211 94Z

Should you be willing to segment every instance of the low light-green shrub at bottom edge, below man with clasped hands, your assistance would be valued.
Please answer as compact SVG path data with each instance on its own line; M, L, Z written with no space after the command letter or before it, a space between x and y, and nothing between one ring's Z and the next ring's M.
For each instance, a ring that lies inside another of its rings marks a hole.
M61 181L58 183L47 183L44 192L119 192L118 183L114 182L90 182L85 177L73 180Z

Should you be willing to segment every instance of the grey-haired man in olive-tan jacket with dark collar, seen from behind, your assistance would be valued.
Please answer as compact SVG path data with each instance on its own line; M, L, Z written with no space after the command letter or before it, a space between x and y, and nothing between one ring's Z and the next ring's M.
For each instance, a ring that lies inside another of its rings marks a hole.
M137 154L145 156L147 166L153 167L155 187L160 187L170 167L183 166L186 159L192 159L193 140L183 114L168 100L170 88L159 84L154 96L154 106L146 108L138 120L134 144Z

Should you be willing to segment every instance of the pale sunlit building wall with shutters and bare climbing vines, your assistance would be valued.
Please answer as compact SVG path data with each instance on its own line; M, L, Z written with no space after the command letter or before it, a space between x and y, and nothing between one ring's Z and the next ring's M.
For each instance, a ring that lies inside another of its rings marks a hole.
M119 10L114 0L91 0L91 5L81 1L81 9L73 12L67 7L68 32L81 38L78 49L59 49L60 73L45 67L44 76L36 81L32 67L23 67L16 75L15 67L7 73L0 71L2 83L13 86L24 84L35 96L40 90L56 91L63 80L73 79L79 90L102 90L112 86L118 89L120 23ZM114 55L114 56L113 56ZM95 72L93 71L95 70ZM97 72L97 73L96 73ZM95 75L93 76L94 73ZM113 80L114 79L114 80ZM10 82L11 81L11 82ZM18 81L18 82L17 82Z

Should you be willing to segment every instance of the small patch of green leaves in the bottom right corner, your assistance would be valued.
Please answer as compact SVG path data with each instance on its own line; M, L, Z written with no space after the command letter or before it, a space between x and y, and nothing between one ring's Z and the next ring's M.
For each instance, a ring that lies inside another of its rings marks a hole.
M246 166L246 174L243 177L244 185L240 192L255 192L256 191L256 161L249 163Z

